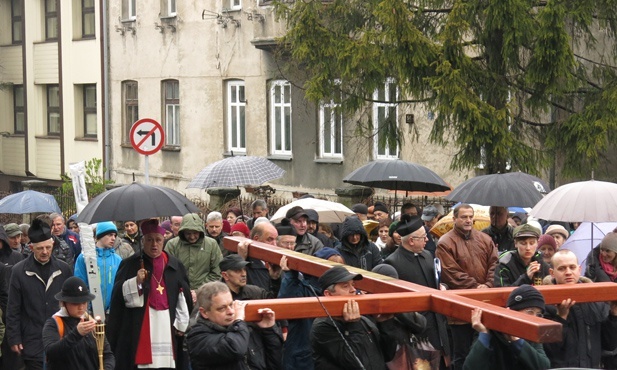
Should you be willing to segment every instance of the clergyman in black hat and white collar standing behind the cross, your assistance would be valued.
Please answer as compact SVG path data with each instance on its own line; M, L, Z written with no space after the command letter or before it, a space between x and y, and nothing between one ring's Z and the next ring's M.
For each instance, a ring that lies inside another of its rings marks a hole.
M398 278L414 284L440 289L435 277L435 261L431 253L424 249L428 240L424 223L420 217L401 223L396 229L401 235L401 246L394 251L384 263L393 266ZM428 338L436 350L449 355L450 346L446 319L432 311L421 312L426 318L426 330L421 334ZM442 356L443 358L443 356Z

